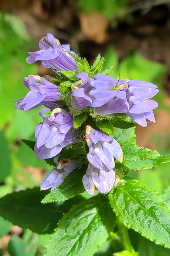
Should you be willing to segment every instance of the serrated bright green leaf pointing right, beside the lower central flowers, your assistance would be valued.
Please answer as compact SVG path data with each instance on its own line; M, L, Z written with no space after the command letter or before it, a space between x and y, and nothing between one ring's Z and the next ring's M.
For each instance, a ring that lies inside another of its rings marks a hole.
M169 156L160 156L156 150L139 148L128 142L119 142L123 151L123 162L116 161L115 168L123 171L151 169L161 163L170 162Z

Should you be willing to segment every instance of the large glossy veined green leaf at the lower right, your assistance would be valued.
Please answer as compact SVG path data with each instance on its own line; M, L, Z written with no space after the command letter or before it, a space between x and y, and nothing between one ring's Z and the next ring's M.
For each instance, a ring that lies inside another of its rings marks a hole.
M124 224L156 244L170 247L170 209L155 190L127 178L125 185L108 197Z

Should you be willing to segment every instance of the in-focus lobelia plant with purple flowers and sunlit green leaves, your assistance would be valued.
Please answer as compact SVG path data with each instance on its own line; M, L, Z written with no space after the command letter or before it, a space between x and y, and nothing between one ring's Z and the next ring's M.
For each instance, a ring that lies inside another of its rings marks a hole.
M100 54L90 67L86 58L52 34L39 41L39 48L29 52L26 62L40 60L53 69L54 77L26 76L23 84L29 92L15 102L16 109L24 111L45 107L39 112L36 142L23 142L53 166L40 184L41 190L51 188L42 202L68 204L63 218L56 216L45 255L91 256L116 237L115 243L121 243L112 254L137 256L129 228L169 248L168 205L155 190L126 176L170 162L170 156L135 143L135 126L155 122L153 109L158 103L150 98L158 93L157 86L109 76L113 66L103 70Z

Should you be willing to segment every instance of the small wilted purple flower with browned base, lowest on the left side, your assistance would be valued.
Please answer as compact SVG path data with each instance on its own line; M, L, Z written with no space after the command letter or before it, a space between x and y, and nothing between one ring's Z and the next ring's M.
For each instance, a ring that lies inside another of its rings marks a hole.
M46 190L51 188L51 191L54 188L60 186L61 183L64 181L64 177L68 176L70 172L72 172L75 168L77 168L80 163L74 162L69 159L61 159L58 163L59 155L55 156L54 162L57 165L57 168L51 169L43 180L41 181L40 188L41 190Z

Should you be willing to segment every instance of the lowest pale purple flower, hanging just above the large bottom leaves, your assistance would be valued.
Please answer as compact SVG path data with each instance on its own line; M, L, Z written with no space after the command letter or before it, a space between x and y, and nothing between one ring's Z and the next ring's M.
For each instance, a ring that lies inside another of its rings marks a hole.
M94 190L100 193L108 193L114 185L115 172L113 169L108 171L95 168L89 163L86 174L83 176L83 185L88 194L94 195Z

